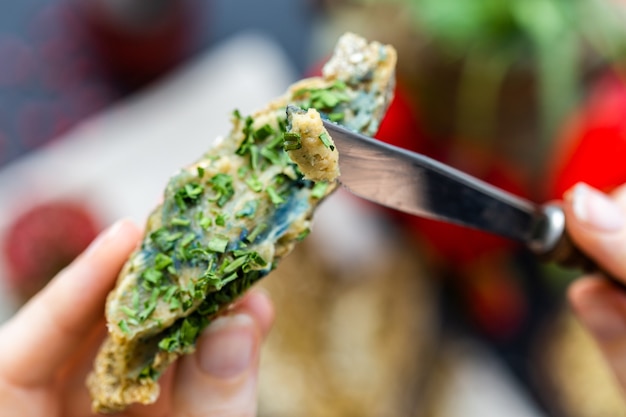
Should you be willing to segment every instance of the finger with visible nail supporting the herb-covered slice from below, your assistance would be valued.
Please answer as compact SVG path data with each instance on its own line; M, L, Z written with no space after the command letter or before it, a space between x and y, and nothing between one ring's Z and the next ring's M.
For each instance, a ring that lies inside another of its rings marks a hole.
M178 364L173 415L255 416L260 345L273 317L267 296L252 292L214 320Z

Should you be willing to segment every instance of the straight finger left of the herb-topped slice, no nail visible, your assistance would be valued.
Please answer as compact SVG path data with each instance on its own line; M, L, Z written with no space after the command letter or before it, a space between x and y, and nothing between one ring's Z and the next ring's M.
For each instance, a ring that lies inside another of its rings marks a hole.
M106 295L139 237L130 221L116 223L0 328L0 340L11 341L0 344L0 373L22 385L53 378L102 318Z

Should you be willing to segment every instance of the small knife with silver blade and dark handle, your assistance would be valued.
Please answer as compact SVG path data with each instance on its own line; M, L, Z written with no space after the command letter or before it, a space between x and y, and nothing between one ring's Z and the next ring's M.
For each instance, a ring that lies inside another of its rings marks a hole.
M558 203L535 204L427 156L323 122L339 152L339 182L353 194L518 241L546 262L599 270L572 243Z

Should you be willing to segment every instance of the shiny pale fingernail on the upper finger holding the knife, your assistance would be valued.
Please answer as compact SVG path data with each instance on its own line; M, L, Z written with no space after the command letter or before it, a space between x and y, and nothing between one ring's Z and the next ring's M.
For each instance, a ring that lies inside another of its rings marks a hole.
M580 183L574 187L571 198L574 215L582 223L604 232L624 227L621 209L606 194Z

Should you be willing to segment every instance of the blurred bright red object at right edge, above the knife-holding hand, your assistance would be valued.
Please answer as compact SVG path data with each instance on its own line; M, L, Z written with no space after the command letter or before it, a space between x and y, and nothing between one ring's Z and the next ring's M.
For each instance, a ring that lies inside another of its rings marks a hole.
M600 81L556 143L548 198L561 199L577 182L603 191L626 183L626 84Z

